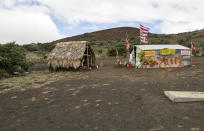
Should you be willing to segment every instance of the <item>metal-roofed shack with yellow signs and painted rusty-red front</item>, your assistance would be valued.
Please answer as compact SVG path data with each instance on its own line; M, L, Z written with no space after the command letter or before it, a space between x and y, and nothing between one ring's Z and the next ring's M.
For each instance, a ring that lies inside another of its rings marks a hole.
M182 45L135 45L129 62L138 68L184 67L191 65L191 54Z

